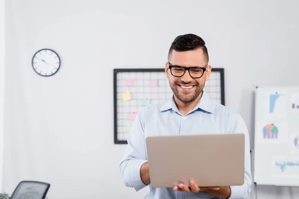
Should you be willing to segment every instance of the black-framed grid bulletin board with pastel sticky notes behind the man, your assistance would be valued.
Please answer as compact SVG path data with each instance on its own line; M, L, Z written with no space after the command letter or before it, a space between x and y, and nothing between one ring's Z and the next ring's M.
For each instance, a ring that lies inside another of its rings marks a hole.
M164 69L114 69L114 143L127 144L138 112L151 103L169 99L173 93ZM224 102L224 69L212 68L204 92Z

